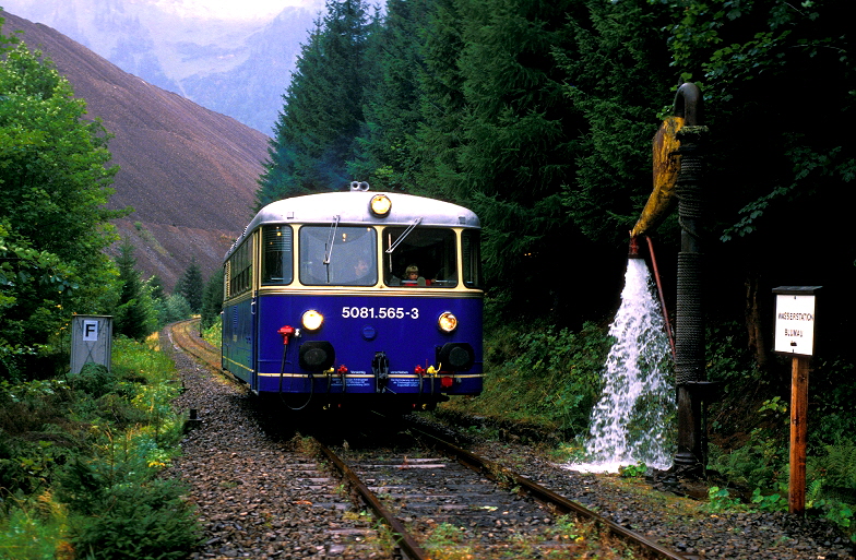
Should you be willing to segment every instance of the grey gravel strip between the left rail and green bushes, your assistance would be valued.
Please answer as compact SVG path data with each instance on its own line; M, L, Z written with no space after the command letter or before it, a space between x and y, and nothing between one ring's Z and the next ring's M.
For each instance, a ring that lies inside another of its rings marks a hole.
M249 393L182 353L173 357L187 389L175 406L200 418L167 472L190 487L199 508L204 544L191 558L389 558L373 523L353 511L299 440L262 431Z

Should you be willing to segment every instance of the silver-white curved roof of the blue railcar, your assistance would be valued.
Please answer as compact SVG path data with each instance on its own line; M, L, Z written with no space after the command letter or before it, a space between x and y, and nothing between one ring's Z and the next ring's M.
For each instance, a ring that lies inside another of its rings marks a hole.
M392 208L387 217L377 217L369 212L369 202L376 194L385 194L392 202ZM419 226L465 228L482 226L473 211L451 202L401 192L324 192L292 196L268 204L255 214L229 252L240 245L247 234L263 224L330 224L335 216L338 216L340 225L408 226L420 217Z

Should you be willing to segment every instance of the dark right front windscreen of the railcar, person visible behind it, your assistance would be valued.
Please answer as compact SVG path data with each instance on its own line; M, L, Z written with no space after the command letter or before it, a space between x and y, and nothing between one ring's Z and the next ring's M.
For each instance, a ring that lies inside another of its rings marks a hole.
M388 286L453 288L457 285L452 229L405 227L383 230L383 281ZM392 252L389 249L393 247ZM414 267L416 275L411 274Z

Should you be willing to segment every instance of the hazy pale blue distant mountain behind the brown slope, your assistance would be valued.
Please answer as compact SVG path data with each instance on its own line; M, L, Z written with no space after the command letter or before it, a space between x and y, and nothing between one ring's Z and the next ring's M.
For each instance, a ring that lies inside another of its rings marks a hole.
M317 10L225 19L191 15L187 0L2 0L126 72L272 133L300 43ZM205 4L205 2L201 2ZM321 7L319 7L320 9Z

